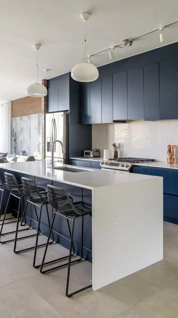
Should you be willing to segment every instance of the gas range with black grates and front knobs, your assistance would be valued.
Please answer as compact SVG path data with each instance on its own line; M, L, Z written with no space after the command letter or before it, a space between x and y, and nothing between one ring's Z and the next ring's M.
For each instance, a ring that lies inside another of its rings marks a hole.
M102 169L113 169L120 171L130 172L133 163L153 162L154 159L143 159L143 158L110 158L102 161L100 166Z

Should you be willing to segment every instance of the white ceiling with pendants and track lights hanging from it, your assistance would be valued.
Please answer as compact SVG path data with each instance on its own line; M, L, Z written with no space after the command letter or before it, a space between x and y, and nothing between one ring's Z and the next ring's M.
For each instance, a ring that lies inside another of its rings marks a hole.
M41 43L39 80L70 72L82 60L84 22L87 22L87 55L99 52L178 20L177 0L0 0L0 100L25 96L36 82L36 54ZM178 23L115 49L115 60L178 41ZM109 51L108 51L109 52ZM108 52L92 58L96 66L110 63ZM45 73L43 69L52 71Z

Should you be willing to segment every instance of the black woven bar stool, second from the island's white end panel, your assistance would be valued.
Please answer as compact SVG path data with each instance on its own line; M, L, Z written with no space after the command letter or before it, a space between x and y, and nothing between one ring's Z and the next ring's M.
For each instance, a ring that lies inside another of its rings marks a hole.
M49 204L49 202L48 202L48 194L45 191L45 189L38 188L35 180L29 179L29 178L22 177L22 186L23 186L24 195L28 197L28 200L27 200L27 203L25 205L24 212L23 212L22 220L23 220L23 218L26 217L26 218L29 218L30 221L31 220L35 221L38 224L38 228L37 228L37 233L36 233L36 244L35 244L35 246L29 247L29 248L26 248L26 249L23 249L23 250L20 250L20 251L16 251L16 242L17 242L17 234L18 234L18 226L17 226L15 243L14 243L14 252L15 253L19 253L19 252L24 252L24 251L27 251L27 250L35 249L33 267L38 268L38 267L41 266L41 264L40 265L35 265L37 248L46 245L46 243L38 245L38 238L39 238L39 235L41 233L41 231L40 231L40 221L41 221L41 216L42 216L43 205L46 205L48 224L49 224L49 228L50 228L49 211L48 211L48 204ZM44 193L40 193L41 189L43 189ZM32 218L30 218L29 216L25 215L28 203L34 205L37 221L32 219ZM37 216L36 206L38 206L40 208L39 218ZM20 215L18 215L17 225L18 225L19 217L20 217ZM49 244L52 244L53 242L54 242L54 236L53 236L53 233L52 233L52 241L49 242Z

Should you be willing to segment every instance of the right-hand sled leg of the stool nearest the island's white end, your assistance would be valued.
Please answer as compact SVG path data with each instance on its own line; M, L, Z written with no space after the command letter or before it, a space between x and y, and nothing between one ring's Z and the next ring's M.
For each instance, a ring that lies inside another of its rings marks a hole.
M72 223L72 236L71 236L71 242L70 242L69 265L68 265L67 284L66 284L66 296L67 296L68 298L70 298L70 297L72 297L73 295L78 294L78 293L80 293L80 292L82 292L82 291L84 291L84 290L86 290L86 289L92 287L92 284L91 284L91 285L89 285L89 286L86 286L86 287L84 287L84 288L81 288L81 289L79 289L79 290L77 290L77 291L75 291L75 292L69 294L70 265L71 265L71 263L72 263L72 262L71 262L71 256L72 256L71 254L72 254L72 243L73 243L73 237L74 237L75 219L76 219L76 217L73 219L73 223ZM81 244L81 245L82 245L82 246L81 246L81 249L82 249L82 251L81 251L81 259L82 259L82 257L83 257L83 216L82 216L82 244ZM81 260L81 259L80 259L80 260Z

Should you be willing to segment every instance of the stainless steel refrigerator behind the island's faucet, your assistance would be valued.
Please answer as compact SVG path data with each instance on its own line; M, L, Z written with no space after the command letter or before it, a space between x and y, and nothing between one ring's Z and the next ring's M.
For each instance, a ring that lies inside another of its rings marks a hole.
M54 146L54 160L65 164L69 163L69 114L46 114L46 161L51 160L51 148L55 140L62 141L64 153L59 142Z

